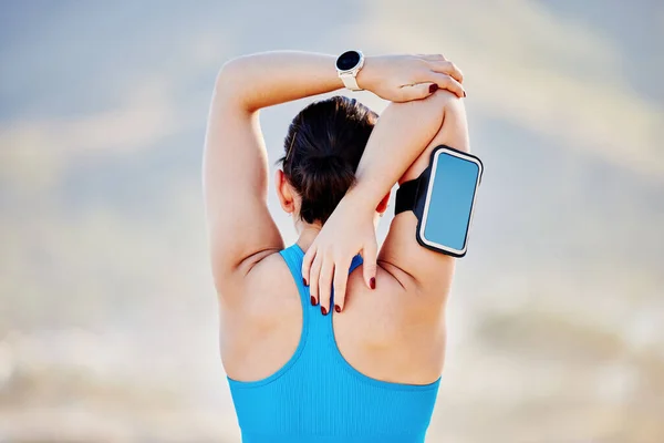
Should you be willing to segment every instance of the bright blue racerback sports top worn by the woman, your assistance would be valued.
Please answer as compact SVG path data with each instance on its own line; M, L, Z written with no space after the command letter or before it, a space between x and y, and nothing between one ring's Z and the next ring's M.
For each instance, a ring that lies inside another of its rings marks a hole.
M351 367L332 329L302 282L304 253L281 256L298 285L302 334L291 359L272 375L252 382L228 379L243 443L424 442L440 379L412 385L378 381ZM352 261L350 272L362 264Z

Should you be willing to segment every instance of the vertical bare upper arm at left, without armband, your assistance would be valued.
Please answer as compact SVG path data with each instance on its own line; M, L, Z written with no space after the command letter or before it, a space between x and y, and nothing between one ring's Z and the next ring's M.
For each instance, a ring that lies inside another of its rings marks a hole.
M258 111L242 105L222 74L210 105L204 194L217 289L245 276L283 240L267 205L268 157Z

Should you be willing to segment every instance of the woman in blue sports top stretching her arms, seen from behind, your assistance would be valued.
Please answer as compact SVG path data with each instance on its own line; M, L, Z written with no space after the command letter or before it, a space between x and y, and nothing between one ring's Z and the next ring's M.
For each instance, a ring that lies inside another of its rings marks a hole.
M369 56L355 80L393 102L380 119L345 97L300 112L274 182L299 233L284 249L258 112L343 87L334 63L261 53L227 63L216 82L205 197L221 358L246 443L422 442L436 400L454 259L417 244L412 213L394 218L380 251L375 224L435 146L468 150L463 78L442 55Z

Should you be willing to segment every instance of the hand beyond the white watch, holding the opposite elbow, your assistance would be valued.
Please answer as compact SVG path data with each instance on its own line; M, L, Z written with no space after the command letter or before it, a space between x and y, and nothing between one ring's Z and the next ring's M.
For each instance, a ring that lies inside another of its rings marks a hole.
M367 56L357 85L391 102L429 96L437 89L465 97L461 71L439 54Z

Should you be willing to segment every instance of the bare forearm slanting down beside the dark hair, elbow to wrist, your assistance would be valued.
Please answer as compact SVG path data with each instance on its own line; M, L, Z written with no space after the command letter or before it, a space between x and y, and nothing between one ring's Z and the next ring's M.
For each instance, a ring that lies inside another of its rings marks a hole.
M374 209L439 131L450 100L458 99L439 91L425 100L390 104L366 144L356 184L344 199Z

